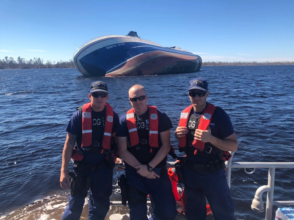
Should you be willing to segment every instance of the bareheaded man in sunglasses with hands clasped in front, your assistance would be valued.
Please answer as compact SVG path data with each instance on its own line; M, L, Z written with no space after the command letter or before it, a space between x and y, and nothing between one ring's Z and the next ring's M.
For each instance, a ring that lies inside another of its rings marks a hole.
M151 219L174 220L176 201L165 167L171 149L171 120L155 106L147 105L143 86L132 86L128 94L133 108L120 117L116 135L119 155L126 164L130 219L148 219L149 194Z

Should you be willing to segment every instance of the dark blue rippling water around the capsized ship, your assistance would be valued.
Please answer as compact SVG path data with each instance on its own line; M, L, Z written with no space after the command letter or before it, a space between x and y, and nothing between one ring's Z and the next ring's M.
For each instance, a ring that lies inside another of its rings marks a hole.
M171 118L173 133L181 111L191 104L189 80L204 77L208 101L222 107L235 128L239 148L233 161L293 162L293 73L294 65L204 66L191 74L117 78L83 77L76 69L0 70L0 219L61 219L69 195L59 185L65 128L76 107L88 101L93 81L108 84L108 101L119 116L131 108L128 89L143 85L148 104ZM173 136L171 141L177 145ZM120 199L116 180L122 172L114 172L111 201ZM293 174L276 170L274 200L294 200ZM267 176L267 169L251 175L232 170L238 219L264 219L265 213L250 205ZM127 210L111 207L109 213Z

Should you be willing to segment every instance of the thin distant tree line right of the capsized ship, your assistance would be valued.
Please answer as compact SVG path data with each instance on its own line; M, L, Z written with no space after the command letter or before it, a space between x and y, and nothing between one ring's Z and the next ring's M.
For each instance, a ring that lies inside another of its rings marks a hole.
M233 66L233 65L294 65L293 61L277 61L277 62L221 62L221 61L208 61L203 62L202 66Z

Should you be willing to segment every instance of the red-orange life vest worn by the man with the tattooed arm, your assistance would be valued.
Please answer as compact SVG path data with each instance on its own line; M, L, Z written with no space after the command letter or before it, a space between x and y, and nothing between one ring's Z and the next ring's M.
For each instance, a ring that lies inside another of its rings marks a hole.
M104 127L104 135L102 141L102 148L104 150L110 150L111 136L113 126L113 109L106 103L106 119ZM83 105L82 112L82 148L86 148L92 145L92 107L91 102Z

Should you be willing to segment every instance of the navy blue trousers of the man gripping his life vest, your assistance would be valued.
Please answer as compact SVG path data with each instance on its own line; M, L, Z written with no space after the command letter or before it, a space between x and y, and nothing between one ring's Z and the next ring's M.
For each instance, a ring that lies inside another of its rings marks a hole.
M198 174L184 167L186 196L185 214L188 220L206 219L206 199L215 220L236 220L235 205L230 196L224 169L218 172Z

